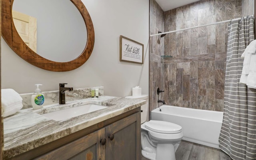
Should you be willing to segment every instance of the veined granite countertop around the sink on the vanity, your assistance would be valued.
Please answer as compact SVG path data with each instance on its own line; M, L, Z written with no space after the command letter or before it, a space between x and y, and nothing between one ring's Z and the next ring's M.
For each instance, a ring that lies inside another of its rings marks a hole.
M58 106L70 108L93 103L108 106L81 116L55 121L40 114L55 110ZM66 104L52 104L39 110L23 109L13 116L4 118L4 159L22 154L109 118L118 116L146 104L145 100L100 96L86 98ZM55 109L54 109L55 108Z

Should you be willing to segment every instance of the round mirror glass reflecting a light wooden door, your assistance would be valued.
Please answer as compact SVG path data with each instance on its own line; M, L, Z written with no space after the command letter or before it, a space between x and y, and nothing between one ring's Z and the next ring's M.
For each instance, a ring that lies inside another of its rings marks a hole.
M86 47L85 22L70 0L14 0L12 15L22 40L48 60L72 61Z

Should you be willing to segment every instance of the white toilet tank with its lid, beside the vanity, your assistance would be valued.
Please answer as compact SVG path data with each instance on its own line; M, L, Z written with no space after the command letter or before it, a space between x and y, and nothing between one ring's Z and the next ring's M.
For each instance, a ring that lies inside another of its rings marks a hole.
M148 95L142 94L141 96L127 96L125 98L131 98L131 99L140 99L140 100L146 100L146 104L142 105L140 109L142 110L141 116L140 116L140 123L146 122L148 119Z

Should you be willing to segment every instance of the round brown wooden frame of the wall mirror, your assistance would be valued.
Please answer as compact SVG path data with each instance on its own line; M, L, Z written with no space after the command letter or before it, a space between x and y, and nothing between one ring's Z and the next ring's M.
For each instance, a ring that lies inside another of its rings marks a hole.
M12 4L14 0L2 0L2 36L12 50L28 63L55 72L74 70L84 64L94 47L94 28L90 14L81 0L70 0L81 13L87 28L87 44L80 56L70 62L54 62L31 50L20 38L12 20Z

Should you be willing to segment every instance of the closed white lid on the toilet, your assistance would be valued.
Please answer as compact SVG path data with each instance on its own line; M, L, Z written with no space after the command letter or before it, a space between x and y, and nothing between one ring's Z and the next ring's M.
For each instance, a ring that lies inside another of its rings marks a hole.
M150 120L145 124L145 127L153 132L165 134L180 133L182 130L182 127L178 124L160 120Z

